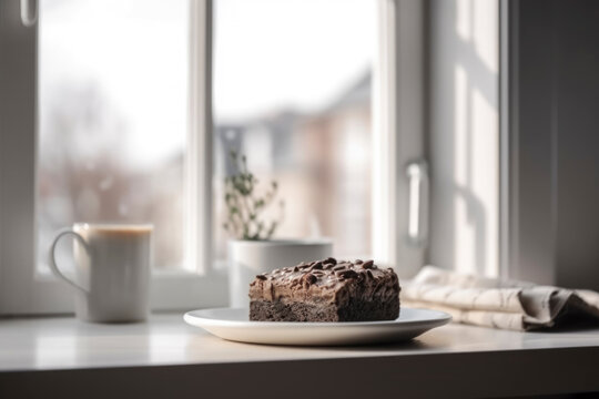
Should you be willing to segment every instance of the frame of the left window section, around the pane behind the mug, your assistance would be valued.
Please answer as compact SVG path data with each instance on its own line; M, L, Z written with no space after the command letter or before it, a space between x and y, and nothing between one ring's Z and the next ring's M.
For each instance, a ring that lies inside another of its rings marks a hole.
M18 0L0 3L0 314L72 313L72 293L53 276L35 273L38 24L20 20ZM150 303L153 310L226 304L226 278L211 259L211 201L201 195L212 175L210 112L211 1L190 1L190 88L186 156L185 260L190 269L155 272ZM10 76L10 81L7 79ZM2 95L2 93L4 95ZM18 101L14 101L18 99ZM10 134L20 131L22 134Z

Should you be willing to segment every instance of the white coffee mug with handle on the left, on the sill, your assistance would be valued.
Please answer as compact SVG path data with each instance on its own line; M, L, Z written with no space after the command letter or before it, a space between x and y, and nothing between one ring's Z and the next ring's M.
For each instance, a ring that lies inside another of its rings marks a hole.
M49 265L75 293L75 315L95 323L141 321L149 315L151 225L75 223L50 246ZM57 266L55 246L74 238L75 280Z

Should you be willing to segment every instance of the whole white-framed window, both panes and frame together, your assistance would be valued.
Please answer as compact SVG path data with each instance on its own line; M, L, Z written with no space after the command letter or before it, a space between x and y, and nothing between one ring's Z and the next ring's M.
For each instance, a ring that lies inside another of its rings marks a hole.
M397 95L414 75L396 65L422 71L422 42L397 43L422 40L422 6L45 0L35 23L27 3L0 2L0 313L71 309L72 293L43 273L48 237L106 218L156 225L154 309L225 305L211 259L224 257L230 149L280 181L281 236L418 263L403 218L422 85Z

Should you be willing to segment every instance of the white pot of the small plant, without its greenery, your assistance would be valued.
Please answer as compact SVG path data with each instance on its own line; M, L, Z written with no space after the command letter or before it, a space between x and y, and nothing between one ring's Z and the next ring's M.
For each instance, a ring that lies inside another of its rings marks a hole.
M256 275L333 256L329 239L230 241L229 299L231 307L248 307L250 283Z

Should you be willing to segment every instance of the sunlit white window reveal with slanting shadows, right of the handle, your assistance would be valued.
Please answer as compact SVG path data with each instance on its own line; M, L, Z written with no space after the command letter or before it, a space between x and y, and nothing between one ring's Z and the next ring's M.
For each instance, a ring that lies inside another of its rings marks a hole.
M433 265L499 274L498 0L429 2Z

